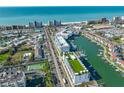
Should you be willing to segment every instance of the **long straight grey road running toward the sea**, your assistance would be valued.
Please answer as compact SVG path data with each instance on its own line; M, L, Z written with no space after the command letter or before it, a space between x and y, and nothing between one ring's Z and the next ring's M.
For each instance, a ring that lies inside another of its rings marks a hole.
M51 56L52 56L52 60L54 62L54 65L55 65L55 69L56 69L56 73L58 75L58 79L60 81L60 84L62 87L65 87L65 84L63 82L63 78L62 78L62 75L61 75L61 71L59 69L59 66L58 66L58 62L57 62L57 57L55 56L55 53L54 53L54 50L53 50L53 47L52 47L52 44L51 44L51 38L48 34L48 29L44 27L44 31L45 31L45 35L46 35L46 39L47 39L47 42L48 42L48 46L49 46L49 49L51 51Z

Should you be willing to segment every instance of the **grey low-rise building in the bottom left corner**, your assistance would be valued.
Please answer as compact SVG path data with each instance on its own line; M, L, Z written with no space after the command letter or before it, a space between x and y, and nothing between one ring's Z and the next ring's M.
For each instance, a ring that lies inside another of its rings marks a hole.
M25 73L16 68L0 70L0 87L25 87Z

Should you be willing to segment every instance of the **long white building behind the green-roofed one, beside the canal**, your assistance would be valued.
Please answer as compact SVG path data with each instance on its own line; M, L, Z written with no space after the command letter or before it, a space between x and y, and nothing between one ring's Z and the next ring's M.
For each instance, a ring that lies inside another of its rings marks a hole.
M55 43L60 52L69 52L70 51L69 44L66 42L66 40L62 36L56 35Z

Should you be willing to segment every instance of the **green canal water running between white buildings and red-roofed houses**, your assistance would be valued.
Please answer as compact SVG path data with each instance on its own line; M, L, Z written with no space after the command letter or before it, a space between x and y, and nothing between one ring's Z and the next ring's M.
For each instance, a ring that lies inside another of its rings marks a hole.
M91 64L94 69L100 75L100 81L102 81L107 87L124 87L124 77L119 72L105 62L101 56L98 56L100 46L91 42L89 39L83 36L74 38L74 43L79 50L85 51L88 58L88 63Z

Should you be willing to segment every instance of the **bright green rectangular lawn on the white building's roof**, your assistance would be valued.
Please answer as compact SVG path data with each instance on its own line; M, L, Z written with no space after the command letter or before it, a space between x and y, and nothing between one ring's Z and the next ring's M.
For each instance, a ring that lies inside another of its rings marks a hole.
M75 73L79 73L80 71L84 70L84 68L82 67L82 65L79 63L77 59L75 60L69 59L69 63Z

